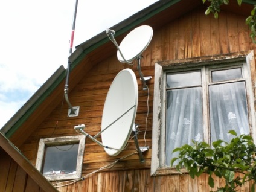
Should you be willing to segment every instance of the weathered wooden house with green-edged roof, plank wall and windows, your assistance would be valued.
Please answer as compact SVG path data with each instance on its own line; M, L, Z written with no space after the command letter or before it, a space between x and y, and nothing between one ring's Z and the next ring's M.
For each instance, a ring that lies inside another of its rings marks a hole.
M79 114L68 117L69 106L63 98L66 71L60 66L5 124L2 133L39 170L46 161L46 148L67 147L51 153L56 161L49 162L50 166L59 166L63 158L56 154L70 152L77 146L80 164L76 165L75 173L68 171L70 177L62 177L60 168L56 168L51 171L54 177L46 176L59 191L216 190L223 184L222 179L214 178L214 188L210 188L206 174L191 179L188 174L170 168L171 147L189 142L188 139L226 139L227 134L220 132L226 132L226 126L232 129L234 124L240 133L256 138L256 45L245 24L254 4L255 1L246 0L239 7L237 1L230 1L229 5L222 5L218 19L212 14L205 15L202 0L161 0L150 5L111 28L117 43L136 27L153 28L152 40L141 59L143 75L152 77L147 81L148 89L142 88L138 64L119 62L117 48L103 31L78 45L69 57L72 64L68 98L72 106L79 106ZM139 161L132 138L117 156L109 156L103 147L74 130L75 126L85 124L90 135L100 132L107 92L118 72L126 68L134 71L138 82L138 143L149 146L142 153L144 162ZM238 93L242 93L239 98ZM182 113L175 103L184 104L189 112L183 109ZM223 108L226 105L229 108ZM170 119L174 124L170 125ZM238 121L241 124L237 125ZM240 191L250 191L249 185Z

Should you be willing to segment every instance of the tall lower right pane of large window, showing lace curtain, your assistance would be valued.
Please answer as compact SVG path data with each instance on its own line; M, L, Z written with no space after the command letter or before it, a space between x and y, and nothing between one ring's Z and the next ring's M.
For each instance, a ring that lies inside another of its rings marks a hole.
M249 134L245 82L211 85L209 95L212 142L230 141L229 130Z

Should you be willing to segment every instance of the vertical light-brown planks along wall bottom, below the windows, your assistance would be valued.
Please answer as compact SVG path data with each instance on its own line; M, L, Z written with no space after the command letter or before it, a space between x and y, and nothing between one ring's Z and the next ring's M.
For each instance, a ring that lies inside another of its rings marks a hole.
M107 171L95 173L83 181L74 184L59 183L65 187L57 187L61 192L72 191L190 191L210 192L217 190L223 184L222 179L214 177L214 188L208 186L208 176L202 174L200 178L191 179L188 174L174 174L167 176L150 176L150 170ZM249 183L237 188L237 191L250 191Z

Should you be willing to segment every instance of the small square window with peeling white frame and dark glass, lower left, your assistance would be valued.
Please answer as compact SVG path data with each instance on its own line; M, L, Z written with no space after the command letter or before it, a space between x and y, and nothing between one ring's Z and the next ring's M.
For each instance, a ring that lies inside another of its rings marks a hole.
M50 181L81 178L85 136L40 139L36 168Z

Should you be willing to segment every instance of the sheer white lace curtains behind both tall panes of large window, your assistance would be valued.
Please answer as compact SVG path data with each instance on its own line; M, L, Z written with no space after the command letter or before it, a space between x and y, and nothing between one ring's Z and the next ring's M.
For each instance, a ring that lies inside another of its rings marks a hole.
M209 86L211 141L230 141L229 130L249 134L245 82ZM167 91L165 165L177 153L173 149L191 141L203 141L202 88Z

